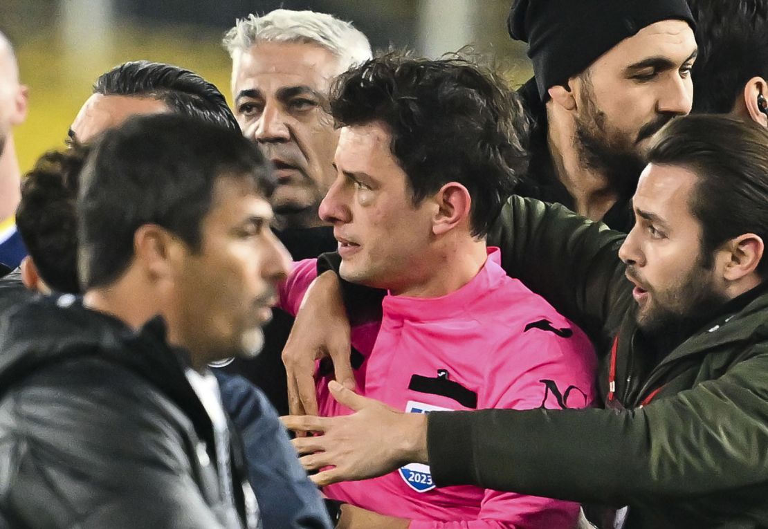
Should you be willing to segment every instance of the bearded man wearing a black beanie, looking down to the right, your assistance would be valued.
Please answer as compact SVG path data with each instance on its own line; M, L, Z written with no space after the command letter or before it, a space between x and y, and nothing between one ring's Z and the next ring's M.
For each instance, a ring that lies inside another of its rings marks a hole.
M521 88L534 127L517 193L628 232L650 137L690 111L687 2L517 0L508 29L535 74Z

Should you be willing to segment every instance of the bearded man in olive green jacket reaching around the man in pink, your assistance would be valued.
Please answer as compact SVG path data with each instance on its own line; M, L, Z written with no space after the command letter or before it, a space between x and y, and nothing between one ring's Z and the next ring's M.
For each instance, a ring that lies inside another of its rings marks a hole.
M429 463L439 486L629 505L616 527L768 527L768 132L681 117L649 160L626 239L518 197L488 239L501 243L508 273L604 352L607 409L425 417L332 382L356 414L286 418L323 432L295 441L306 468L332 467L313 479L369 478L415 461ZM307 309L319 312L323 296L308 296ZM323 314L315 325L327 331L338 312ZM310 339L296 336L293 347ZM330 352L345 382L343 355Z

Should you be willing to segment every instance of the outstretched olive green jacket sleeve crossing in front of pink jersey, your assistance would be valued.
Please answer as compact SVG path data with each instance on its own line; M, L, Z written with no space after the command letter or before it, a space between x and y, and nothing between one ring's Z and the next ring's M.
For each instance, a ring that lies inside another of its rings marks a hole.
M739 488L768 479L768 359L645 408L433 412L429 465L440 486L476 484L603 504Z

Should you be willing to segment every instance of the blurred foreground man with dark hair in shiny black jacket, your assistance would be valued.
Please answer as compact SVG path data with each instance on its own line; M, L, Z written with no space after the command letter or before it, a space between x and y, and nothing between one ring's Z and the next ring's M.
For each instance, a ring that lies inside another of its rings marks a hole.
M178 116L105 134L82 175L83 303L0 324L0 526L258 527L208 362L258 348L288 258L239 134Z

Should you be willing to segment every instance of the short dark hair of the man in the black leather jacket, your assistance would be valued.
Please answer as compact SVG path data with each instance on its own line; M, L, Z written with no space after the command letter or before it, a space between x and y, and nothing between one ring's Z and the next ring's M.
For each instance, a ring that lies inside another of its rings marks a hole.
M218 179L253 184L265 198L276 185L268 160L242 134L178 114L131 117L106 131L81 174L80 279L84 289L118 279L134 255L134 233L154 223L193 251Z

